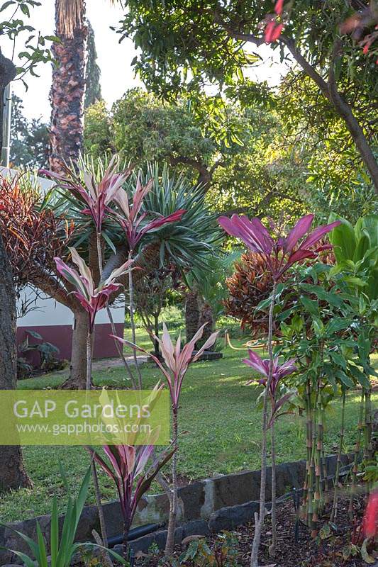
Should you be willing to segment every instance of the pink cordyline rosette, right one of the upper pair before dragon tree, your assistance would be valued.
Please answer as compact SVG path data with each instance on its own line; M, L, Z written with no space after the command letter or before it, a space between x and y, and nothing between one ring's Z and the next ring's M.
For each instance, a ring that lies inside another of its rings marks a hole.
M114 201L121 210L121 214L116 213L116 219L125 232L130 250L135 249L135 246L138 245L138 242L147 232L156 230L167 223L175 223L177 220L180 220L182 215L186 212L184 209L179 209L172 213L172 215L155 218L141 227L140 225L143 223L143 220L145 220L146 213L140 214L140 208L143 205L145 196L151 191L152 184L153 179L150 179L150 181L143 186L138 177L133 203L131 205L126 191L121 187L114 194Z

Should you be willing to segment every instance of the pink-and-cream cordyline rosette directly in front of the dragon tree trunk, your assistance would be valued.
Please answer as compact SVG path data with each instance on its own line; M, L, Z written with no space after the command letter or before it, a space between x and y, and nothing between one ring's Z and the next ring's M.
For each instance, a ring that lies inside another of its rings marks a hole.
M94 280L91 271L87 264L85 264L82 257L79 256L76 249L70 248L72 255L72 262L77 265L77 270L67 266L61 258L55 258L58 273L63 276L75 289L72 293L80 302L82 307L89 314L89 330L94 329L94 320L99 310L103 309L108 303L109 296L113 291L116 291L121 283L116 283L116 278L126 274L132 260L128 260L121 267L113 270L105 281L101 281L97 288L94 288Z

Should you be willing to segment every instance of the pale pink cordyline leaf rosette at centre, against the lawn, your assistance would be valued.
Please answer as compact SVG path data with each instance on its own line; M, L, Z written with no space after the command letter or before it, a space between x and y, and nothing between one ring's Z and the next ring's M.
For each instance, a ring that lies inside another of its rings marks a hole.
M179 405L179 396L181 393L182 382L189 368L189 364L198 360L202 356L202 354L204 354L204 351L211 347L214 342L216 342L216 339L218 337L218 332L213 332L209 339L207 339L205 344L199 349L199 351L193 354L196 342L201 339L205 326L206 324L202 325L202 327L196 332L194 337L189 342L187 342L187 344L185 344L183 348L181 348L181 337L177 339L177 342L174 345L172 343L171 337L169 336L167 327L165 323L163 323L162 338L160 339L159 337L155 337L155 335L154 338L160 345L162 357L164 358L166 367L163 366L162 362L157 357L155 357L153 354L150 354L150 352L146 351L145 349L138 347L138 345L134 344L133 342L130 342L126 339L121 339L121 337L115 337L114 335L111 336L122 344L126 344L128 347L138 350L139 352L144 352L152 358L152 360L155 362L155 364L157 364L157 366L162 371L162 374L165 376L165 379L167 380L172 405L177 409Z

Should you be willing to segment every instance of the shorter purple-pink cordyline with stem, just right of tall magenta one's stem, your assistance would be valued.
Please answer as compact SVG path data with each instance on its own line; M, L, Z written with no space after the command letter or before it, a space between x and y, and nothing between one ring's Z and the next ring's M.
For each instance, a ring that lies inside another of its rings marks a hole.
M296 359L289 359L283 364L279 364L278 357L273 359L273 369L272 369L272 381L269 387L269 400L270 400L270 418L267 422L267 428L271 431L271 451L272 451L272 544L269 546L269 554L271 556L275 555L277 546L277 502L276 502L276 451L275 451L275 437L274 437L274 423L280 415L284 415L287 412L282 412L282 407L285 403L289 402L293 395L293 392L286 393L277 399L279 382L285 376L289 376L293 372L296 372L297 368L295 366ZM264 378L258 379L259 384L262 384L267 388L267 380L269 377L269 359L261 359L258 354L252 350L248 351L248 359L244 359L243 362L248 364L252 369L262 374ZM248 381L248 384L255 382L255 380Z

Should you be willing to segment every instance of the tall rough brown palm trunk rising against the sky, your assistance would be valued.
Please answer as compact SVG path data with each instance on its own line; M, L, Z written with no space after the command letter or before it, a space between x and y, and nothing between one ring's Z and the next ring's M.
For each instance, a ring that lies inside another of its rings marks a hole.
M50 126L50 169L62 171L62 162L77 161L83 145L83 114L85 96L85 67L87 60L88 28L85 18L85 2L79 1L79 17L73 23L71 33L62 21L63 0L55 0L56 35L60 43L52 50L57 66L52 71L50 101L52 106Z

